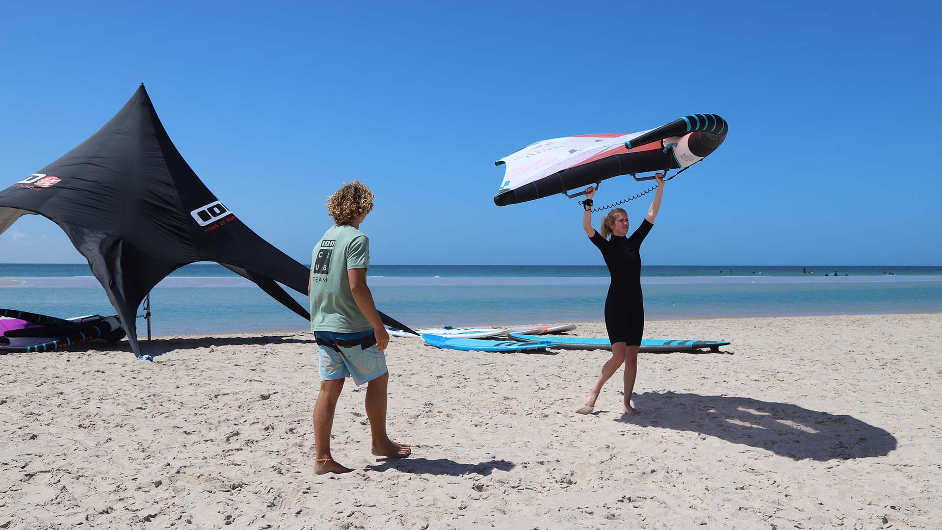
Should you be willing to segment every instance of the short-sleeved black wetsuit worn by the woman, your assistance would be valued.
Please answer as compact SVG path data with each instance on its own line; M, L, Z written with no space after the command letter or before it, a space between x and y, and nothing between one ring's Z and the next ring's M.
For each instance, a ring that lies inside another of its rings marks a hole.
M630 238L611 235L606 240L595 232L592 242L602 251L609 266L611 285L605 299L605 327L609 340L640 346L644 331L644 300L642 298L642 257L639 250L653 224L645 219Z

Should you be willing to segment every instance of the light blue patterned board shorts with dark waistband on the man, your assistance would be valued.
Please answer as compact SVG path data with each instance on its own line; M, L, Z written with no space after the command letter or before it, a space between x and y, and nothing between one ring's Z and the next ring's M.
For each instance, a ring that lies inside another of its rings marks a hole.
M388 372L386 355L376 347L372 329L360 333L315 331L314 338L321 381L352 377L354 383L363 385Z

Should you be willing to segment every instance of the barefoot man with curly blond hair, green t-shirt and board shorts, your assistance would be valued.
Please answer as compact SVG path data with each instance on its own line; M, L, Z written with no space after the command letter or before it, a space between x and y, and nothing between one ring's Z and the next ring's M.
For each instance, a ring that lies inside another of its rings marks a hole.
M366 383L373 455L404 458L412 453L386 434L389 372L383 350L389 344L389 334L366 287L369 239L360 231L372 209L373 192L356 180L334 191L327 199L327 211L336 224L317 241L311 257L307 290L320 369L313 418L317 474L353 471L331 456L333 414L346 377L352 377L357 385Z

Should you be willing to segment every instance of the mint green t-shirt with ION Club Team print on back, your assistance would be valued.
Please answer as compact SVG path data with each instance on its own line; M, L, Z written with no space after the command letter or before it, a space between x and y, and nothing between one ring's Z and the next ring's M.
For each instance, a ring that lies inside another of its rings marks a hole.
M333 226L311 255L311 331L360 333L373 329L350 292L349 269L369 268L369 239L350 226Z

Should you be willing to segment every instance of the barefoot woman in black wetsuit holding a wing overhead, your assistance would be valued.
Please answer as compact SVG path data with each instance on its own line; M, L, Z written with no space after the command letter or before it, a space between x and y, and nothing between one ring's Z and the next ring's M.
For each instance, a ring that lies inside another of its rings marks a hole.
M611 358L598 374L595 386L589 390L586 405L579 408L579 414L593 411L602 385L609 380L618 367L625 364L625 403L622 411L626 414L638 414L631 406L631 392L635 388L635 375L638 373L638 348L642 343L644 330L644 301L642 299L642 241L651 231L654 220L658 217L660 199L664 194L664 174L657 174L658 191L655 193L648 214L641 226L631 237L628 233L628 215L622 208L615 208L602 220L602 234L595 232L592 226L592 198L595 189L586 189L585 214L582 216L582 228L586 235L602 252L605 264L609 266L611 285L605 299L605 327L611 341ZM611 239L607 237L611 234Z

